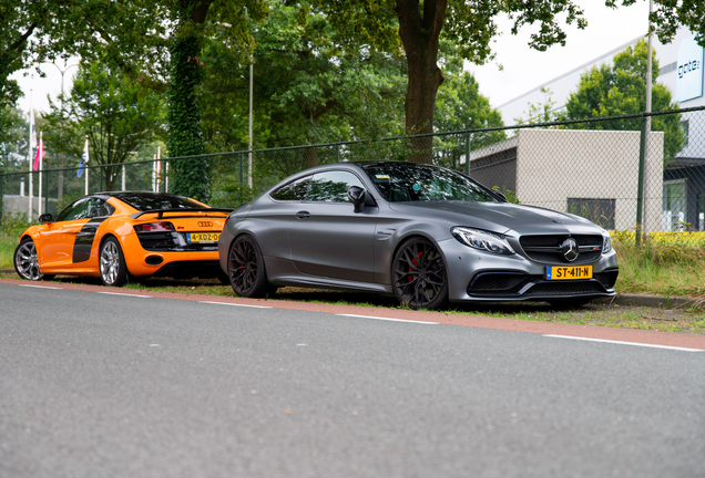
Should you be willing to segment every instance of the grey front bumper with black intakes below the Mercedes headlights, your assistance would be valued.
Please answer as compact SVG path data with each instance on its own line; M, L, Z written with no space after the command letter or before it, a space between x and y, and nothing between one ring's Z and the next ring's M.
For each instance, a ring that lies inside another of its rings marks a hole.
M451 302L551 301L616 294L619 267L614 250L591 263L592 279L551 281L545 279L545 268L555 264L534 262L519 253L478 251L456 239L441 241L439 247L448 267Z

